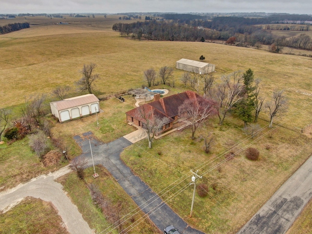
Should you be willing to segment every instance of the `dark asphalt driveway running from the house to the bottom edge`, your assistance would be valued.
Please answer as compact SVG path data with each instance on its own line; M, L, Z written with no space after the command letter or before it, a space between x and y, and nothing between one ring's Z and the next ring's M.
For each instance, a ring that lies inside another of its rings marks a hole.
M137 203L138 207L148 214L155 225L163 231L167 225L173 224L181 234L203 234L188 226L172 209L156 195L131 169L120 160L123 149L132 144L124 137L107 144L96 140L91 133L82 137L74 137L84 152L81 156L89 158L88 166L92 166L89 139L95 164L102 164L114 176L120 186ZM101 176L101 175L99 175Z

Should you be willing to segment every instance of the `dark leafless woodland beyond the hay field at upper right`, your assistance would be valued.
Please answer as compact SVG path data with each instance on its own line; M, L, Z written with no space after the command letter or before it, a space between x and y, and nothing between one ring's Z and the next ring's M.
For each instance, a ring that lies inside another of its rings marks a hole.
M216 17L213 20L146 20L134 23L115 23L113 30L121 36L131 36L134 39L170 40L170 41L205 41L228 40L235 37L237 46L255 46L275 44L280 52L282 46L290 46L312 50L312 38L307 34L286 39L285 36L274 36L255 26L268 23L268 19L249 19L244 17Z

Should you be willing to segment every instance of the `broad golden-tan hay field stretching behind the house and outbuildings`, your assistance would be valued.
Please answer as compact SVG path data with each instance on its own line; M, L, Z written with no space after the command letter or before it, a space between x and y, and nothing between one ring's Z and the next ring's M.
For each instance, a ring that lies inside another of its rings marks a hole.
M275 89L291 89L287 96L292 112L310 103L310 96L295 91L312 93L311 58L217 43L125 39L111 30L119 21L114 17L106 21L104 17L103 21L82 18L84 21L69 25L48 24L44 20L49 19L41 19L42 25L0 35L0 108L23 103L25 97L34 94L49 94L59 85L75 88L80 69L90 62L98 66L97 89L109 95L144 85L146 69L175 67L178 59L197 60L200 55L216 65L217 78L253 69L255 77L262 79L268 98ZM181 74L175 69L176 86ZM310 123L309 113L304 109L300 115L303 122L296 118L299 123L295 124L303 127Z

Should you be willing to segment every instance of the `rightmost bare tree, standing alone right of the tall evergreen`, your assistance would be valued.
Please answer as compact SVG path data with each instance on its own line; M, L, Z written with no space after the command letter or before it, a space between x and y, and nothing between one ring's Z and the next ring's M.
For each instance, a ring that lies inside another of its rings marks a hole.
M272 100L268 101L265 107L269 110L269 128L272 128L273 118L287 111L287 99L284 95L284 91L274 91Z

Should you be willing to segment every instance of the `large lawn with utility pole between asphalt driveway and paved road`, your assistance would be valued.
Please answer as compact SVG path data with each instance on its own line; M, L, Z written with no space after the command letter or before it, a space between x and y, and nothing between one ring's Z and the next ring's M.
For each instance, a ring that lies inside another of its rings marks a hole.
M259 124L265 126L267 122ZM147 149L146 140L140 141L125 149L122 159L187 223L205 233L234 234L312 150L308 138L291 130L279 128L270 138L270 129L265 128L254 139L248 139L241 128L242 124L232 117L221 127L217 119L212 119L196 133L194 141L187 129L154 141L152 149ZM215 144L211 153L205 154L199 136L208 133L215 136ZM247 147L260 151L259 160L245 157ZM224 161L230 152L234 158ZM193 186L188 184L191 169L203 175L197 183L209 187L207 197L195 196L192 218Z

